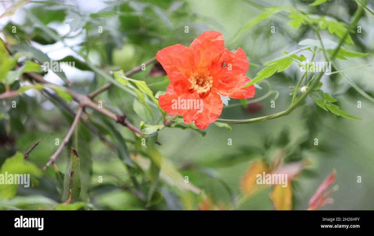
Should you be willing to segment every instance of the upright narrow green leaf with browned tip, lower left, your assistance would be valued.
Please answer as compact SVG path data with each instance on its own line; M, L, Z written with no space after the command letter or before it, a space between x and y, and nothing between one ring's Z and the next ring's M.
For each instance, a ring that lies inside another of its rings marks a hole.
M80 196L80 174L79 174L79 156L74 148L71 148L71 160L66 167L64 176L64 194L62 202L76 202ZM71 197L69 196L71 194Z

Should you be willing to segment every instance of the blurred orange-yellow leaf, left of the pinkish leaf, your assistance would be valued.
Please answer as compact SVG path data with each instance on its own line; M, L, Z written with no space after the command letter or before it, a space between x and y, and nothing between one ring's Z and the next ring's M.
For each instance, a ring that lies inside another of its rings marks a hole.
M256 183L257 175L263 174L263 172L267 172L269 169L269 166L264 162L260 160L254 160L250 164L248 170L245 172L242 181L241 181L241 190L243 193L250 194L253 193L254 190L258 187L258 184Z

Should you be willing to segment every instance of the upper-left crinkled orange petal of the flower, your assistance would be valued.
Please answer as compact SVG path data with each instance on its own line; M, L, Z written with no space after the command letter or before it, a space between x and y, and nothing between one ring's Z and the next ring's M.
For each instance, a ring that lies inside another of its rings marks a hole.
M187 79L188 72L196 67L192 50L180 44L158 51L156 59L168 74L170 81Z

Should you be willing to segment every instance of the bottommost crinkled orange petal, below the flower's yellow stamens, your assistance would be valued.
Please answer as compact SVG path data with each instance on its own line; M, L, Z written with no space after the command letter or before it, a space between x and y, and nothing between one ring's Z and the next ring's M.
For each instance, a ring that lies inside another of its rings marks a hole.
M202 99L202 111L190 109L183 115L183 120L187 124L195 121L195 125L203 130L221 115L223 103L215 88L212 88L212 91Z

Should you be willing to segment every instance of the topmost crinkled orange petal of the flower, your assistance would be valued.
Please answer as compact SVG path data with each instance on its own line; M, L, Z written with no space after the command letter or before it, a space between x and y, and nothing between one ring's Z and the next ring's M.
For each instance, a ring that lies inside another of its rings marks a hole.
M223 35L217 31L204 31L193 40L189 48L194 53L196 65L199 68L209 68L224 52Z

